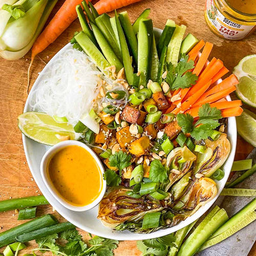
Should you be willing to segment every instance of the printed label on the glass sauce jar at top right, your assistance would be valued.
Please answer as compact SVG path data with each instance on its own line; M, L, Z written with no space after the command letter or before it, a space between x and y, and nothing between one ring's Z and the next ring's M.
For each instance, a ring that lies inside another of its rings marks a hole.
M247 26L229 20L218 10L214 0L206 0L205 17L211 29L230 40L242 39L254 28L254 25Z

